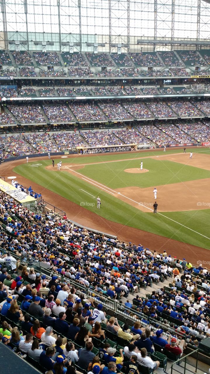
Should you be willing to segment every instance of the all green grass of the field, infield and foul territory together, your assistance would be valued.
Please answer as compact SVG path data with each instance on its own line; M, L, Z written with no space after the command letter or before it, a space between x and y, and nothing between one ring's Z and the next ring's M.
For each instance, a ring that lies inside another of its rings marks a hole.
M189 151L189 150L188 150ZM203 148L193 149L193 152L201 152ZM169 150L168 153L177 153L177 150ZM108 154L99 156L88 156L81 157L77 159L62 159L62 164L68 163L72 165L73 163L95 163L99 161L117 160L117 159L131 159L138 157L151 156L151 153L129 153L129 154ZM154 152L152 154L159 154L160 152ZM209 150L205 150L205 154L210 154ZM190 229L197 231L204 236L209 237L210 232L210 209L204 209L199 211L184 211L184 212L162 212L161 215L153 215L151 213L145 213L133 206L116 199L112 195L106 193L105 191L95 187L85 181L71 175L64 170L62 172L55 172L45 169L45 166L50 165L52 160L41 160L42 166L38 168L30 167L31 163L22 164L13 169L17 174L40 184L44 188L47 188L66 199L75 202L80 205L81 203L96 203L96 198L86 194L84 191L88 191L93 196L98 196L100 191L100 197L102 200L101 209L97 210L96 206L84 206L87 210L93 211L110 221L118 222L126 226L135 227L147 232L159 234L161 236L169 237L171 239L180 240L189 244L197 245L203 248L210 248L210 240L198 235L197 233L180 226L176 222L170 221L171 218L174 221L181 223ZM129 166L127 166L129 163ZM132 166L131 166L132 163ZM168 183L178 183L180 181L195 180L200 178L209 178L210 172L194 168L192 166L186 166L170 161L157 161L154 159L145 159L143 161L143 167L146 167L148 163L151 170L149 173L143 174L144 181L139 180L139 174L127 174L122 169L137 167L134 164L139 165L139 160L123 161L119 163L109 163L100 165L87 165L79 172L88 175L88 177L103 183L110 188L120 188L125 186L158 186L158 184L168 184ZM107 165L109 167L107 169ZM115 174L114 175L114 166ZM118 172L119 169L119 172ZM173 170L173 172L172 172ZM92 175L94 174L94 175ZM175 175L174 175L175 174ZM123 175L123 177L122 177ZM150 176L149 176L150 175ZM134 184L130 177L137 178L137 182ZM181 179L180 179L181 178ZM123 185L124 183L124 185ZM137 184L138 183L138 184ZM41 191L38 191L41 192ZM59 201L54 202L56 206L59 206ZM164 217L165 216L165 217ZM167 218L168 217L168 218Z

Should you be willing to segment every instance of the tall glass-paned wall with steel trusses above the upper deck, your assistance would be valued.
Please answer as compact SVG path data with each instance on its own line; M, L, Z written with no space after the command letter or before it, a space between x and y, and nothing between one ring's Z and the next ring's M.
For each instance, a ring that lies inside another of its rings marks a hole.
M0 0L0 4L0 48L6 50L36 51L44 45L47 51L58 52L72 46L83 52L96 47L98 52L117 48L141 52L172 50L169 41L179 46L182 40L193 45L210 39L210 1ZM137 44L145 39L157 43ZM165 46L158 45L159 40Z

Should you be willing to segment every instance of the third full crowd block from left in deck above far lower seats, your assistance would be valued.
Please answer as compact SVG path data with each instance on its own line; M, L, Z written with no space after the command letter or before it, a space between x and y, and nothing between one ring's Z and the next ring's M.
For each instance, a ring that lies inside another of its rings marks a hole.
M70 109L79 122L104 121L106 117L95 104L70 104Z

